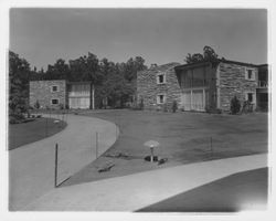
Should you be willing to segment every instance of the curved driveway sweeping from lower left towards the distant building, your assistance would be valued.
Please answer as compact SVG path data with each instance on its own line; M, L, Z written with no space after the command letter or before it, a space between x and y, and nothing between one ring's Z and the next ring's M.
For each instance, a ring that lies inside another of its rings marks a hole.
M52 115L56 118L57 115ZM60 117L61 118L61 117ZM54 189L54 154L59 144L59 182L96 158L115 141L115 124L93 117L67 115L67 127L52 137L9 151L9 208L21 210Z

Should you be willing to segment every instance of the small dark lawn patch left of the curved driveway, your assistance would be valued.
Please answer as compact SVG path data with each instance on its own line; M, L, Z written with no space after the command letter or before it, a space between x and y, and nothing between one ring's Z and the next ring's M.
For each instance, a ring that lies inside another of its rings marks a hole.
M54 120L53 118L36 118L34 122L10 124L9 150L52 136L66 127L65 122L54 124Z

